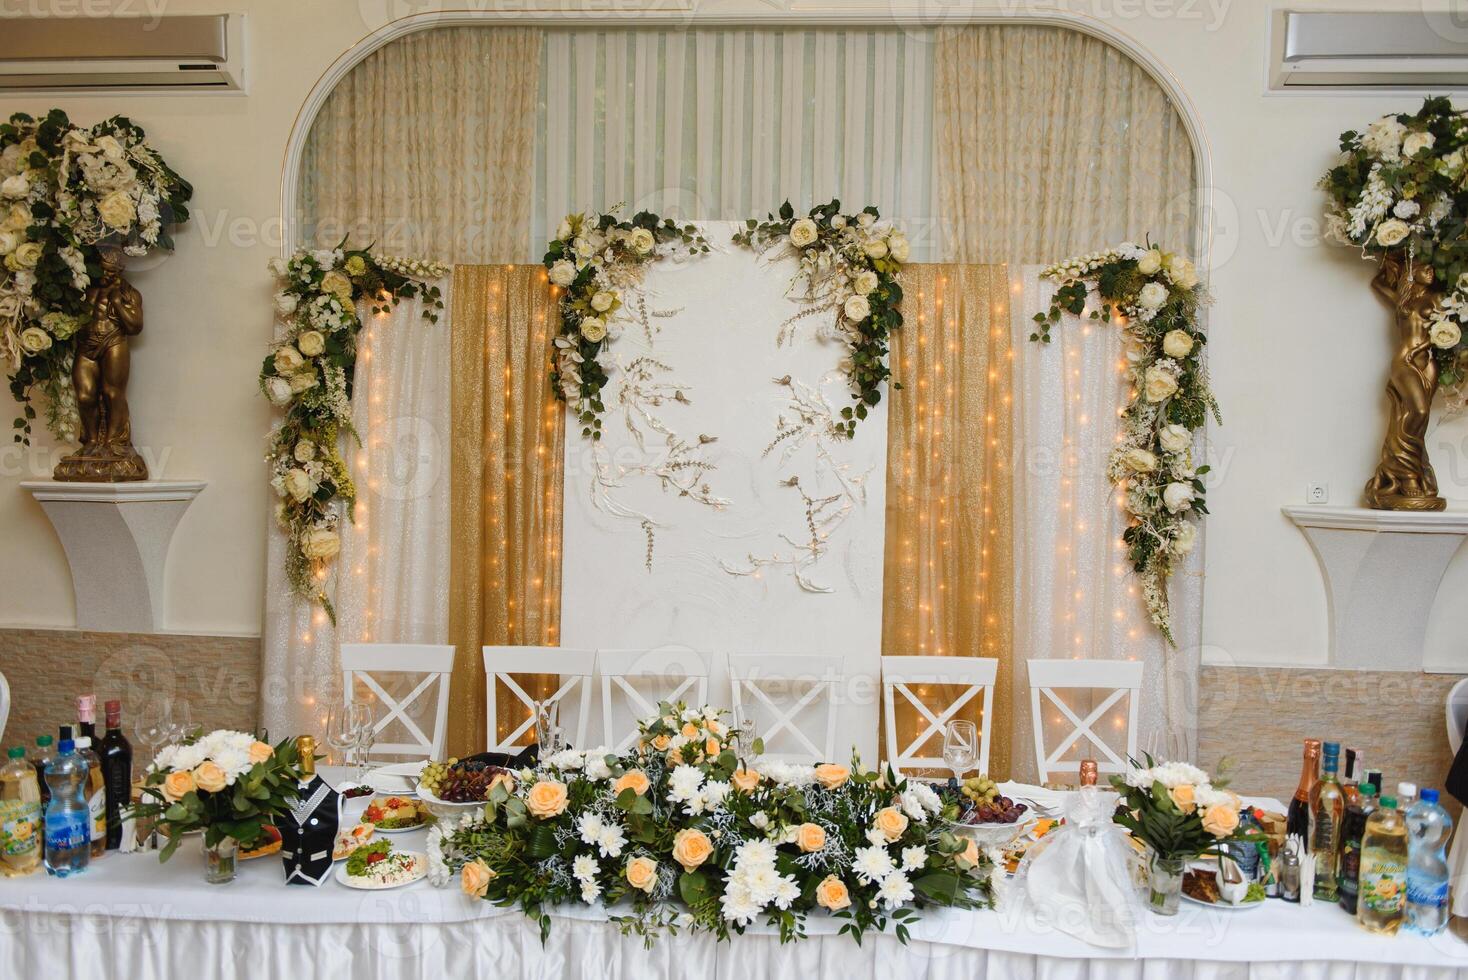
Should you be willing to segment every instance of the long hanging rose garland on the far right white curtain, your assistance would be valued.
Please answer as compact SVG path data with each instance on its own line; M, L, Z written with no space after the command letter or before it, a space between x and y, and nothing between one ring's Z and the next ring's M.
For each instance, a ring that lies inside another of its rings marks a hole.
M1067 258L1041 277L1060 288L1050 310L1035 314L1031 340L1050 343L1050 329L1061 314L1116 321L1129 334L1132 396L1107 477L1124 493L1132 522L1122 538L1132 571L1142 578L1152 625L1176 646L1167 584L1174 562L1193 549L1192 516L1208 513L1199 478L1208 467L1193 464L1193 434L1210 415L1223 424L1202 364L1207 336L1198 307L1208 296L1185 255L1132 242ZM1086 314L1091 289L1101 305Z

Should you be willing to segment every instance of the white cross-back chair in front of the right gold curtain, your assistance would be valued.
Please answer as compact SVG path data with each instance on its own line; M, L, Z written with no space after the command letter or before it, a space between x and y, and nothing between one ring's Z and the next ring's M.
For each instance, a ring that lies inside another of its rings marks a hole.
M944 726L959 714L963 706L975 697L982 697L981 726L979 726L979 761L978 772L989 770L989 728L994 720L994 678L998 675L1000 662L989 657L882 657L882 709L884 728L887 732L887 761L897 772L913 769L940 769L947 763L940 753L934 756L919 756L918 751L934 735L942 736ZM964 685L941 713L928 707L915 688L923 685L954 687ZM922 734L906 748L897 741L897 698L901 694L913 709L926 720Z

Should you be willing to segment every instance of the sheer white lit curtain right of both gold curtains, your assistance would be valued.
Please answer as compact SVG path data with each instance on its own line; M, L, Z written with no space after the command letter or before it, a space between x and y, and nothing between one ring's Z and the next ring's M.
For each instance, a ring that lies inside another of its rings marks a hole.
M1016 778L1035 775L1026 659L1141 660L1138 745L1170 758L1192 758L1198 744L1201 550L1173 575L1179 646L1171 648L1148 619L1122 541L1127 515L1105 475L1117 414L1130 390L1124 336L1114 324L1067 317L1053 329L1051 343L1032 343L1031 317L1048 308L1055 290L1053 282L1038 277L1039 268L1017 270L1011 285L1019 293L1013 304ZM1102 719L1097 731L1107 735L1120 716ZM1054 734L1047 736L1047 745L1055 741ZM1116 747L1117 741L1108 744Z

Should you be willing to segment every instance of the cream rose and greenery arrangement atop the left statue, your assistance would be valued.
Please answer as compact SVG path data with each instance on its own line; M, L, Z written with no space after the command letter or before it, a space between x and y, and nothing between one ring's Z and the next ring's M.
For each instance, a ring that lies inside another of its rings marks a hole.
M53 109L0 123L0 349L22 405L16 442L31 439L37 389L51 434L76 440L69 340L88 320L101 249L172 249L167 224L188 220L192 195L123 116L84 128Z

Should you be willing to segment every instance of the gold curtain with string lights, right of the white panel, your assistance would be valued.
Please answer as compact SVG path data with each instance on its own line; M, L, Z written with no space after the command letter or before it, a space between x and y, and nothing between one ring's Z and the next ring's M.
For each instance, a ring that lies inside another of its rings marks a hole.
M989 773L1010 767L1010 286L1004 266L909 266L893 336L882 653L994 657ZM919 688L929 709L962 691ZM897 698L907 745L922 716ZM981 701L960 717L981 722ZM970 710L972 709L972 710ZM938 713L935 710L935 713ZM919 748L942 754L942 736Z

